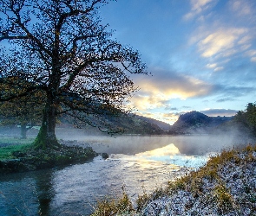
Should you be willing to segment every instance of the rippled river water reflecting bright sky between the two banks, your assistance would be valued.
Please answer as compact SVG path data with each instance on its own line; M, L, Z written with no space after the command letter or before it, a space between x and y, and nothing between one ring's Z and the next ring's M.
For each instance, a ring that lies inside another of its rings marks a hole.
M220 149L241 146L238 138L207 136L81 136L73 144L85 143L109 158L0 176L0 215L89 215L96 200L115 198L122 188L134 201L203 166Z

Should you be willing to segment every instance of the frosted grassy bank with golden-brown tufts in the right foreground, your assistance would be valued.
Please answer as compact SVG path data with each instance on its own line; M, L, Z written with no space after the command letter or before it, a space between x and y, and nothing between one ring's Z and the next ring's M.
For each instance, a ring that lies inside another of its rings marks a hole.
M256 215L256 146L223 150L205 167L141 194L135 206L125 193L99 201L92 215Z

